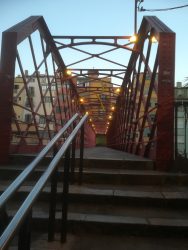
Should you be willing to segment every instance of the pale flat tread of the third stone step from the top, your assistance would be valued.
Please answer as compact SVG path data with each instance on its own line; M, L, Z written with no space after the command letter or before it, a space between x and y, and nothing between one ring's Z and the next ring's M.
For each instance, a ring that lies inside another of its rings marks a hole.
M1 181L0 192L10 184L10 181ZM19 192L29 192L34 182L27 182L19 188ZM47 185L43 192L49 193L50 186ZM62 184L58 185L57 192L62 192ZM135 190L132 186L107 185L101 189L98 185L70 185L69 193L71 195L95 195L95 196L112 196L112 197L135 197L135 198L152 198L152 199L188 199L187 186L137 186Z

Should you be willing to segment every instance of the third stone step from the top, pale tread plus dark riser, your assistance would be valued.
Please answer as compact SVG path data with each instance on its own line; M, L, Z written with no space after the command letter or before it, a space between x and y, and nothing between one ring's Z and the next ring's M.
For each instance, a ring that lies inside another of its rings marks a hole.
M0 192L2 193L10 181L1 181ZM26 182L12 197L13 200L21 201L31 191L34 182ZM48 201L50 197L50 183L43 189L39 199ZM62 183L58 184L57 201L62 198ZM136 206L156 207L188 207L187 186L117 186L117 185L70 185L69 200L71 203L82 204L126 204Z

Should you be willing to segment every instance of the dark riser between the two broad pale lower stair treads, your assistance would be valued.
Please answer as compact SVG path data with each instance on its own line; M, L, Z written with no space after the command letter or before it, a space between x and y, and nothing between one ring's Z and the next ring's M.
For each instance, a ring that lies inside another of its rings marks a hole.
M12 215L19 208L18 202L11 201L7 204L7 212ZM62 210L61 202L57 202L56 215L60 216ZM34 216L47 217L49 213L49 204L45 201L37 201L33 207ZM125 217L140 218L169 218L169 219L188 219L187 208L174 209L172 207L154 207L150 206L134 206L132 204L113 204L103 202L74 203L69 202L69 213L79 214L102 214Z

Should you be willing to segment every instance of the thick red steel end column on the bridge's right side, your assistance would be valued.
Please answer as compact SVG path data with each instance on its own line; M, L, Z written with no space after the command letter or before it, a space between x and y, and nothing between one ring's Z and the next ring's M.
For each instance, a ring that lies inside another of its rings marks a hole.
M175 33L160 33L156 167L166 171L174 158Z

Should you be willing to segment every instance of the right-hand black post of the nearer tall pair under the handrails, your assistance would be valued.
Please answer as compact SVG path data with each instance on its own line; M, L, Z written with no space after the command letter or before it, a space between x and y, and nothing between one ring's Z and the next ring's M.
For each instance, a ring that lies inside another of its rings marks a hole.
M65 153L65 162L64 162L61 242L66 242L66 239L67 239L67 211L68 211L68 192L69 192L69 166L70 166L70 147L67 149L67 151Z

